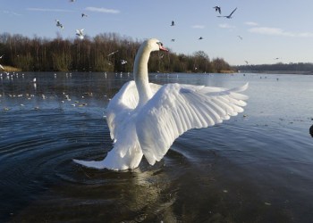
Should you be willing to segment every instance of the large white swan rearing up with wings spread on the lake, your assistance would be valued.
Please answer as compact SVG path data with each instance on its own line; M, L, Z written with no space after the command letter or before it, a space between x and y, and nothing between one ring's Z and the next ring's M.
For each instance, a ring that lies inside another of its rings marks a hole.
M248 99L238 92L180 84L159 86L148 82L152 51L165 50L155 38L141 46L134 62L134 79L125 83L107 106L106 120L114 148L103 161L78 161L95 169L134 169L144 155L150 165L160 161L173 141L190 128L206 128L243 111Z

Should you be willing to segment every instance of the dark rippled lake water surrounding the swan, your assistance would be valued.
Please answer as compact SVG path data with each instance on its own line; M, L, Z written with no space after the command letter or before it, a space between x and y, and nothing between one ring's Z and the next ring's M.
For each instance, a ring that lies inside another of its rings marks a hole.
M31 83L37 78L37 84ZM158 84L250 83L245 111L180 136L155 166L114 172L72 159L112 148L114 73L0 79L1 222L312 222L313 76L151 74Z

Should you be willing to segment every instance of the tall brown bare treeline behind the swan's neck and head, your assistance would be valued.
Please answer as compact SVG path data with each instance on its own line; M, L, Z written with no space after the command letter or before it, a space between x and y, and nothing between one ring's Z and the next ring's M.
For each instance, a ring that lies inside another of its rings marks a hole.
M132 71L142 41L103 33L84 39L24 37L0 34L1 64L23 71ZM111 54L114 53L115 54ZM222 58L210 60L203 51L192 55L151 54L150 72L223 72L232 67Z

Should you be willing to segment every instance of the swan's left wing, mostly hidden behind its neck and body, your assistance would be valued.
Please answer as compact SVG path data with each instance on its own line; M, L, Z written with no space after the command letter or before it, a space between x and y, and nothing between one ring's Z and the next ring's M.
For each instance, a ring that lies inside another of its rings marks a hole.
M155 94L161 87L156 84L150 83L152 93ZM110 128L110 135L115 139L117 128L123 128L123 122L128 120L138 104L139 95L136 88L135 81L131 80L123 85L121 90L114 95L106 108L106 122Z

